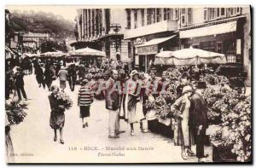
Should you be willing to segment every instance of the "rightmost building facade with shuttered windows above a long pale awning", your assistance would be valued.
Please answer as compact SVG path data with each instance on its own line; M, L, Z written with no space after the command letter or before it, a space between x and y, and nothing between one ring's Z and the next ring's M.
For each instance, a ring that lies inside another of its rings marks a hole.
M228 62L244 65L251 83L250 7L180 9L180 47L222 53Z

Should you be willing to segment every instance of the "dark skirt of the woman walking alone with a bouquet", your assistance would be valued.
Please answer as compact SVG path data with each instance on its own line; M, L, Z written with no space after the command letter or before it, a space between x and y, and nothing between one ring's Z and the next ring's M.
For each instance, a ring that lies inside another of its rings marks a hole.
M64 127L65 124L65 114L51 112L49 117L49 126L52 129L58 130Z

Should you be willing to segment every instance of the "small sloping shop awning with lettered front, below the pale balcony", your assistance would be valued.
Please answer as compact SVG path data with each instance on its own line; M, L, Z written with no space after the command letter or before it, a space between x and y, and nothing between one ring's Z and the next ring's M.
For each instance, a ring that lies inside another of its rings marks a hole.
M137 54L138 55L155 55L158 53L158 44L166 42L169 39L176 37L173 35L171 37L166 38L154 38L146 43L137 46Z

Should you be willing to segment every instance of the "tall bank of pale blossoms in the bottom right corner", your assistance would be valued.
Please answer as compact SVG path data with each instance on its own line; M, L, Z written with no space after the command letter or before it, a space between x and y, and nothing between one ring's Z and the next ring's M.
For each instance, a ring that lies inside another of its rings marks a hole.
M237 161L251 161L251 96L231 91L223 96L222 101L225 110L221 111L221 130L213 134L211 139L224 146L231 145L231 152L236 154ZM219 109L221 108L219 107Z

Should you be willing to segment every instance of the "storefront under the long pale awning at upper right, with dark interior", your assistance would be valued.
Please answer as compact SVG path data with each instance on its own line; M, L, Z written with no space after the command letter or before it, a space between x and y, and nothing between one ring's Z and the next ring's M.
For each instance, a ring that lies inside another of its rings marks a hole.
M226 55L228 62L243 63L245 16L180 29L181 48L192 46Z

